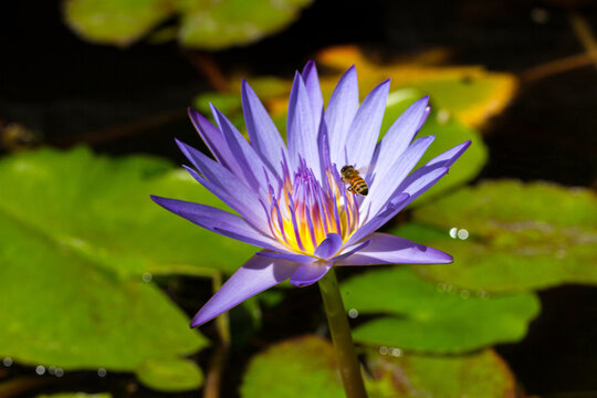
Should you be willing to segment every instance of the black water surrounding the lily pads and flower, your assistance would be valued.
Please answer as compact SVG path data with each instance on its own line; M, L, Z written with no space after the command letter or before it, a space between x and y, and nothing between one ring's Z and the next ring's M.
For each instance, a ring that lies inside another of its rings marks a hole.
M453 50L454 64L522 74L584 51L564 7L575 3L318 1L285 32L212 56L224 73L245 70L290 76L317 50L333 44L365 44L380 56L444 46ZM22 123L42 132L46 143L61 146L85 140L85 134L109 130L115 137L95 142L97 151L149 153L178 163L182 157L174 145L175 136L199 143L184 109L193 95L210 87L175 44L137 44L127 50L92 45L63 25L59 2L34 7L3 2L0 7L4 20L0 24L0 119ZM579 10L597 29L597 8L586 2ZM537 12L542 23L532 18L537 19ZM511 106L484 129L491 160L481 177L591 186L597 166L596 109L595 66L523 83ZM166 115L158 126L119 136L116 127L138 125L156 114ZM196 286L186 287L192 292ZM189 292L182 289L174 295L181 302L199 303L201 297L186 297ZM542 292L541 298L543 312L528 336L520 344L499 347L500 354L528 394L597 395L597 289L563 286ZM305 310L295 304L305 302L312 306ZM313 314L318 303L316 290L291 293L283 303L284 313L265 314L263 344L324 324ZM292 318L311 321L293 324ZM241 367L243 356L256 349L232 354L231 363L237 360ZM71 377L73 385L90 383L86 374ZM111 376L107 381L115 390L127 391L129 378ZM232 394L237 381L227 380L224 391ZM105 388L100 381L93 385Z

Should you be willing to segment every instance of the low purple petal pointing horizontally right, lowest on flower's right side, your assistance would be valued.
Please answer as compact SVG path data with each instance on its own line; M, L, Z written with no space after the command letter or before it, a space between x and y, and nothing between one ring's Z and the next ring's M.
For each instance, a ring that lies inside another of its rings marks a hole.
M447 264L452 256L437 249L387 233L374 233L371 243L336 265Z

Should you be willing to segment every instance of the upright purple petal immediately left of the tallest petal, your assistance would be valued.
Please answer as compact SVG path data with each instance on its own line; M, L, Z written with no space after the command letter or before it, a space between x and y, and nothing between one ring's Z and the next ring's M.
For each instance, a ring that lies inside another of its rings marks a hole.
M305 83L298 73L294 76L287 117L289 156L293 169L298 168L300 159L303 158L321 181L317 129L313 124L313 112Z

